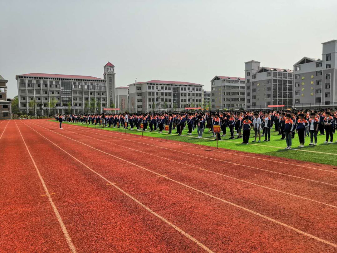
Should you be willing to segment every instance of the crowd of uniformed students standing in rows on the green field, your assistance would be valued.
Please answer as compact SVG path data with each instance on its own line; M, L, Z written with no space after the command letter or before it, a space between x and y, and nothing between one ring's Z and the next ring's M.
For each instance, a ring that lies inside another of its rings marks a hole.
M229 139L242 138L242 144L248 144L250 131L254 130L252 142L270 141L270 131L274 128L280 139L286 141L286 148L292 147L295 132L298 134L300 146L304 147L305 137L310 136L309 145L317 144L317 134L326 135L324 143L333 143L333 134L337 126L337 110L280 110L280 111L221 111L221 112L167 112L167 113L120 113L120 114L85 114L85 115L55 115L60 121L95 124L105 127L117 127L150 132L162 131L168 125L168 134L176 130L178 135L188 129L188 135L197 130L198 137L202 138L205 128L212 132L215 140L226 136L228 128ZM214 125L220 125L221 133L214 132ZM329 139L330 138L330 139ZM337 141L336 141L337 142Z

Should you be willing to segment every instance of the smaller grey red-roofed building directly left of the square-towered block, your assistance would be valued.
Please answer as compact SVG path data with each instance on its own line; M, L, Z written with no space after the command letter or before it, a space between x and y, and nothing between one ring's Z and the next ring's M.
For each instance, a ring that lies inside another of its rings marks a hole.
M215 76L211 80L211 109L244 108L245 89L244 78Z

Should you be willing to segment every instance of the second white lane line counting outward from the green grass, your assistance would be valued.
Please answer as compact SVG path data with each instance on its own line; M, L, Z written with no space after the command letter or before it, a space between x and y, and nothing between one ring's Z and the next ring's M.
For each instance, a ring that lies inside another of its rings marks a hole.
M32 124L34 124L34 123L32 123ZM40 126L40 125L38 125L38 126ZM43 128L43 126L40 126L40 127ZM110 137L111 138L115 138L115 139L127 140L127 139L118 138L118 137L114 137L114 136L110 136ZM144 144L144 145L153 146L153 147L159 147L159 148L162 148L162 149L167 149L167 150L170 150L170 151L175 151L175 152L179 152L179 153L183 153L183 154L189 154L189 155L192 155L192 156L202 157L202 158L211 159L211 160L215 160L215 161L219 161L219 162L224 162L224 163L229 163L229 164L233 164L233 165L243 166L243 167L247 167L247 168L252 168L252 169L267 171L267 172L270 172L270 173L280 174L280 175L283 175L283 176L290 176L290 177L294 177L294 178L299 178L299 179L303 179L303 180L308 180L308 181L312 181L312 182L316 182L316 183L320 183L320 184L331 185L331 186L337 187L337 185L330 184L330 183L327 183L327 182L322 182L322 181L317 181L317 180L308 179L308 178L304 178L304 177L294 176L294 175L285 174L285 173L281 173L281 172L276 172L276 171L272 171L272 170L261 169L261 168L257 168L257 167L252 167L252 166L244 165L244 164L232 163L232 162L228 162L228 161L224 161L224 160L220 160L220 159L215 159L215 158L211 158L211 157L201 156L201 155L198 155L198 154L187 153L187 152L175 150L175 149L172 149L172 148L165 148L165 147L161 147L161 146L156 146L156 145L152 145L152 144L148 144L148 143L144 143L144 142L132 141L132 140L127 140L127 141L141 143L141 144Z

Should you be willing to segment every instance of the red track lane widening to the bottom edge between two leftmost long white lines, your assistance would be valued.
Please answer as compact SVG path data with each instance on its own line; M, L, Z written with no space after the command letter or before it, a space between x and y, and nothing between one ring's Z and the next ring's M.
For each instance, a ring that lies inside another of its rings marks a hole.
M18 125L46 184L55 191L53 199L78 251L203 251L24 123ZM83 161L95 167L95 160Z

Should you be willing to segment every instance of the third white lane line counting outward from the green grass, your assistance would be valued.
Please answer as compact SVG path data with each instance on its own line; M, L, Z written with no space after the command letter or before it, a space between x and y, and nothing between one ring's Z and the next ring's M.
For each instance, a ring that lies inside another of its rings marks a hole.
M102 142L106 142L108 144L112 144L112 145L115 145L115 146L118 146L118 147L127 148L127 149L131 149L131 150L134 150L134 151L137 151L137 152L149 154L150 156L162 158L162 159L165 159L165 160L168 160L168 161L171 161L171 162L187 165L187 166L190 166L190 167L193 167L193 168L196 168L196 169L200 169L200 170L204 170L204 171L211 172L211 173L214 173L214 174L218 174L218 175L221 175L221 176L225 176L225 177L228 177L228 178L231 178L231 179L242 181L242 182L245 182L247 184L251 184L251 185L254 185L254 186L262 187L262 188L265 188L265 189L268 189L268 190L280 192L280 193L287 194L287 195L290 195L290 196L302 198L302 199L305 199L305 200L309 200L309 201L313 201L313 202L316 202L316 203L319 203L319 204L323 204L323 205L327 205L327 206L331 206L331 207L337 208L337 206L334 206L334 205L331 205L331 204L328 204L328 203L324 203L324 202L320 202L320 201L317 201L317 200L309 199L309 198L302 197L302 196L299 196L299 195L296 195L296 194L292 194L292 193L283 192L283 191L280 191L280 190L277 190L277 189L273 189L273 188L270 188L270 187L267 187L267 186L262 186L262 185L259 185L259 184L255 184L253 182L249 182L249 181L245 181L243 179L239 179L239 178L235 178L235 177L232 177L232 176L228 176L228 175L225 175L225 174L222 174L222 173L218 173L218 172L215 172L215 171L212 171L212 170L209 170L209 169L203 169L203 168L200 168L200 167L196 167L196 166L189 165L189 164L186 164L186 163L178 162L178 161L175 161L175 160L172 160L172 159L168 159L168 158L165 158L165 157L156 156L155 154L151 154L151 153L144 152L144 151L141 151L141 150L133 149L133 148L130 148L130 147L125 147L125 146L118 145L118 144L115 144L115 143L111 143L111 142L108 142L108 141L104 141L104 140L101 140L101 139L93 138L91 136L82 135L82 134L79 134L79 133L76 133L76 132L71 132L69 130L65 130L65 131L69 132L69 133L78 134L78 135L81 135L81 136L84 136L84 137L89 137L89 138L94 139L94 140L99 140L99 141L102 141Z

